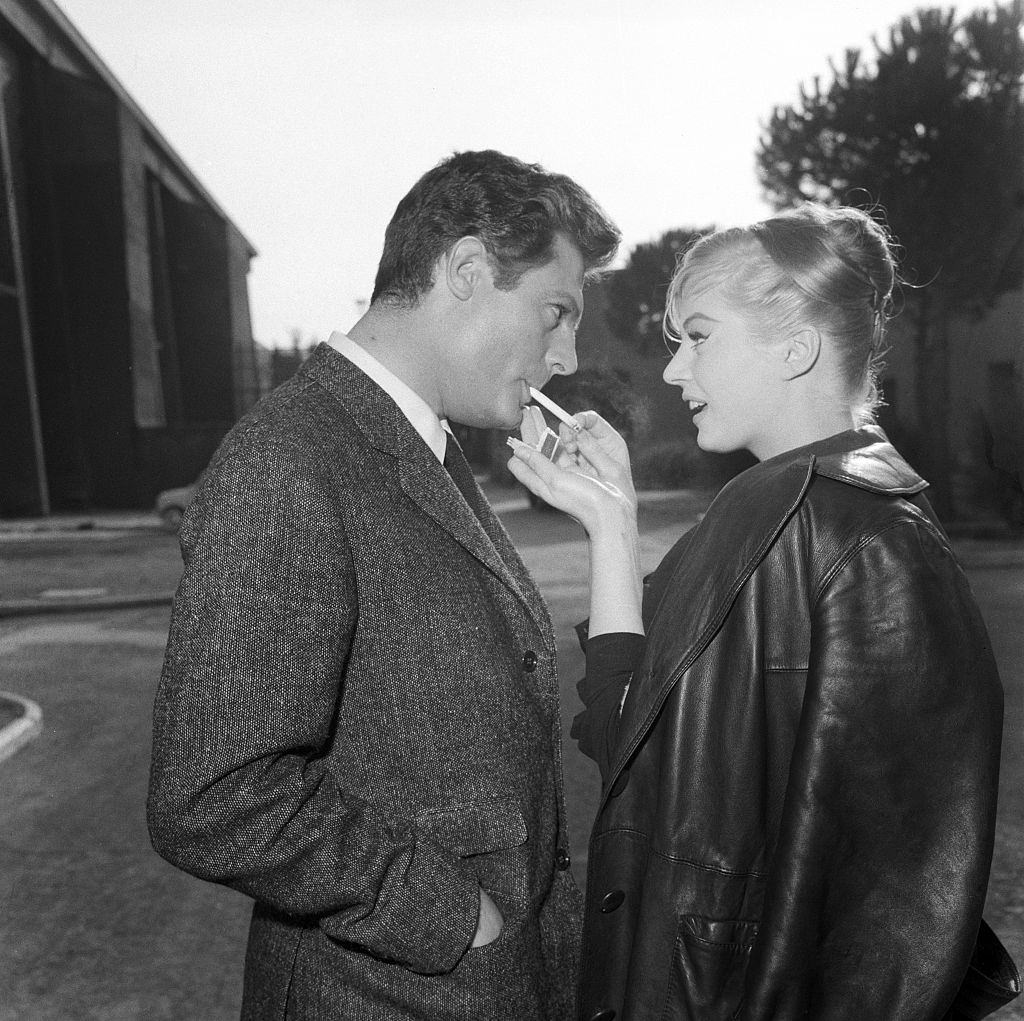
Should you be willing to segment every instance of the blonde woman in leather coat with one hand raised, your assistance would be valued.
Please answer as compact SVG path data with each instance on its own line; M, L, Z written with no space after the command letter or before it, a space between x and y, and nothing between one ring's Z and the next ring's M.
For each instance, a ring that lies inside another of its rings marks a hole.
M643 585L621 437L588 412L557 465L516 446L590 539L584 1021L941 1019L968 970L1002 690L927 483L864 424L895 280L854 209L687 253L665 380L759 464Z

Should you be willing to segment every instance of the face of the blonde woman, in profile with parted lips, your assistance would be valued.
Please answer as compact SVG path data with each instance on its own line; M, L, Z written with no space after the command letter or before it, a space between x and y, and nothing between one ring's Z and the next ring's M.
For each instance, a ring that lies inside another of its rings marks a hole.
M694 412L697 445L759 460L788 450L784 387L772 340L759 338L719 287L679 296L675 323L682 340L664 373Z

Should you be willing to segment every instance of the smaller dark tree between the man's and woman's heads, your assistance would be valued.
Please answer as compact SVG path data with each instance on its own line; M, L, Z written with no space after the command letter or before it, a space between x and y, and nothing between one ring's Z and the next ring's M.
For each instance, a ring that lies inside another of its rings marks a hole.
M679 256L713 227L667 230L652 242L637 245L626 266L608 278L608 326L620 340L635 343L642 353L662 344L665 293Z

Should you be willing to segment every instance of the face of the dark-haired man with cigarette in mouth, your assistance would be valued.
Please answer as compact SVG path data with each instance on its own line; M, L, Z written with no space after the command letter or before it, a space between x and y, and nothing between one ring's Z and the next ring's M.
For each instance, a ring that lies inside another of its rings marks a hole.
M512 291L489 271L470 301L443 384L445 417L464 425L514 429L540 389L577 370L575 331L583 314L583 257L561 236L555 257L527 269Z

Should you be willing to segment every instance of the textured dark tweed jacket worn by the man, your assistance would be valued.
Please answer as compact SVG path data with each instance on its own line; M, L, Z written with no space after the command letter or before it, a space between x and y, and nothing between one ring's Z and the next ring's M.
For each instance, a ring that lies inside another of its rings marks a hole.
M321 345L185 514L148 822L169 861L256 900L244 1018L572 1013L555 641L468 484L478 516ZM505 926L469 948L480 887Z

